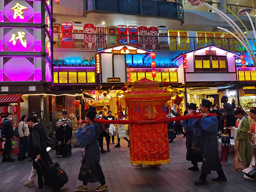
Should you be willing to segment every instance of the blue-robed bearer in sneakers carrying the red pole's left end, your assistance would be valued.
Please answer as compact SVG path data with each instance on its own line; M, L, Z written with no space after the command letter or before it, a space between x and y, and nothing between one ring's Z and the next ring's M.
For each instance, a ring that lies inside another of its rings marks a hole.
M86 114L87 123L82 128L82 123L79 122L79 128L76 133L77 144L80 147L85 147L85 155L82 160L82 165L78 175L78 179L83 181L83 184L75 188L74 191L86 191L87 183L100 182L100 186L95 191L103 191L108 189L105 182L105 177L100 166L100 151L99 151L99 124L94 122L97 112L95 107L90 107Z

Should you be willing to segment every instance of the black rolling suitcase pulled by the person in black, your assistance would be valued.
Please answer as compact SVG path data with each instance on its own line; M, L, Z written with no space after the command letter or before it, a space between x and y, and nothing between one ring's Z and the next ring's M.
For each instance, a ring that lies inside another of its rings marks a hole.
M49 167L46 167L42 159L37 163L43 170L43 177L47 178L49 186L53 189L60 189L68 182L68 175L60 168L59 163L55 162Z

